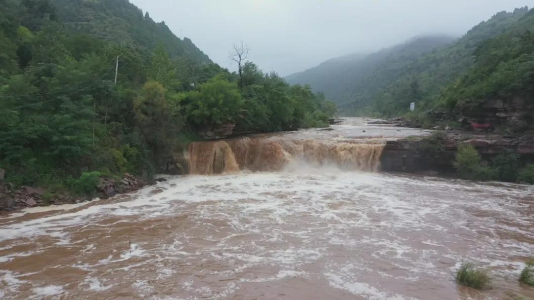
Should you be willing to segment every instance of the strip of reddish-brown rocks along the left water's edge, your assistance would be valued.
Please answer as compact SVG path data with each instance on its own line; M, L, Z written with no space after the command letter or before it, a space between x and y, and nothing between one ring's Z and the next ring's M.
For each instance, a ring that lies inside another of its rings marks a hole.
M74 204L93 199L89 196L74 196L67 191L50 194L41 188L26 186L15 188L12 183L3 182L2 179L0 179L0 212L2 210L12 211L36 206ZM137 191L147 184L146 181L139 180L130 174L125 174L120 181L103 178L96 187L96 197L108 199L116 194Z

